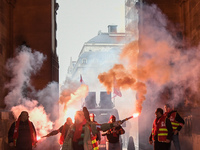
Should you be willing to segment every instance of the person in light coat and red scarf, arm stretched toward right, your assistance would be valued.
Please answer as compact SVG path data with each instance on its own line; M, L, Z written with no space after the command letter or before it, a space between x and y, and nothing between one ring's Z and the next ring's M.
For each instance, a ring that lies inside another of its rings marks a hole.
M120 121L114 123L96 124L86 119L83 111L77 111L75 122L67 132L62 150L99 150L95 134L119 126ZM89 118L89 113L87 113Z

